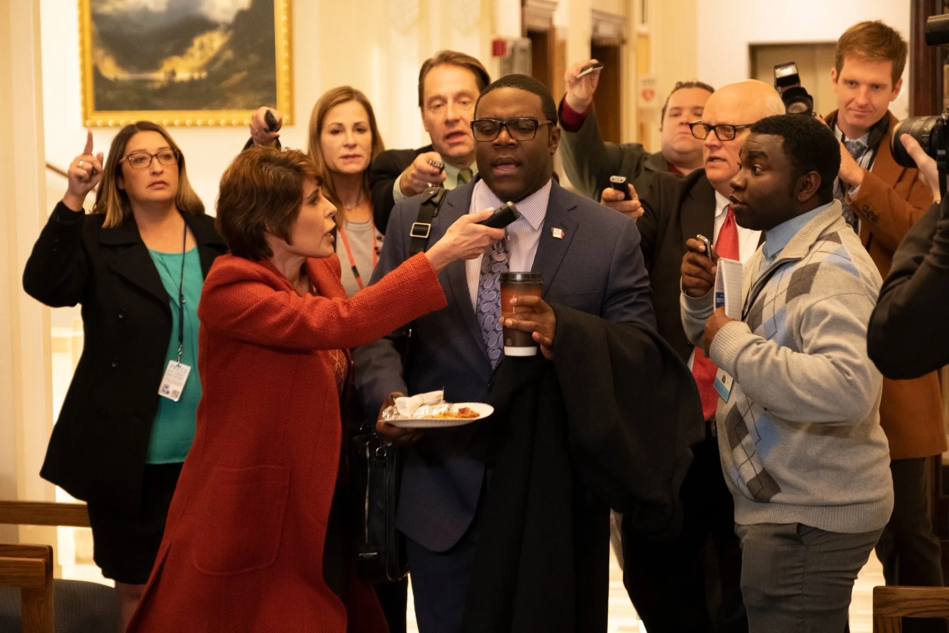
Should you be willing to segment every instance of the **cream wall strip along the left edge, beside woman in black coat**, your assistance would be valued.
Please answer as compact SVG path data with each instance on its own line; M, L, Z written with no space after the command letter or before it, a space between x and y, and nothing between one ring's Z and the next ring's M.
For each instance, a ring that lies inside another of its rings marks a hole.
M0 0L0 42L0 116L15 121L0 169L0 498L52 500L39 477L52 428L48 310L20 281L46 207L38 0ZM18 538L53 544L55 530L0 527L0 541Z

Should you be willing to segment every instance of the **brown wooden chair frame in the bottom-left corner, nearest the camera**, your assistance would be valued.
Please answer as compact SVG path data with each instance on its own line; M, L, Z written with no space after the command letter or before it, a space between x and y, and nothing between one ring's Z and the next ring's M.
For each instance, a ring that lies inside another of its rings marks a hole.
M53 633L53 549L0 544L0 586L20 587L20 630Z

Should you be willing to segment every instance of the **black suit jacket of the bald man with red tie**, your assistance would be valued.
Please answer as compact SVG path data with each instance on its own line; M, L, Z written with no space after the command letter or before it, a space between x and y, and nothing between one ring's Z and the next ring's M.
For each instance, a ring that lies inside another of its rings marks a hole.
M659 333L682 360L688 361L693 345L685 336L679 314L682 255L685 240L697 233L712 237L715 189L704 169L686 177L656 174L640 200L643 213L636 228L642 235L642 258L649 270Z

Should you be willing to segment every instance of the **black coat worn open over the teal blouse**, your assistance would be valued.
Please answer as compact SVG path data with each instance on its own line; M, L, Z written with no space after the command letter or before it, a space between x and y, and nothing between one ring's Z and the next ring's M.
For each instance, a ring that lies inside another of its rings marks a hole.
M207 275L227 246L214 217L182 216ZM83 355L40 475L79 499L137 512L172 312L135 219L103 229L104 219L61 202L23 273L23 288L47 306L83 306Z

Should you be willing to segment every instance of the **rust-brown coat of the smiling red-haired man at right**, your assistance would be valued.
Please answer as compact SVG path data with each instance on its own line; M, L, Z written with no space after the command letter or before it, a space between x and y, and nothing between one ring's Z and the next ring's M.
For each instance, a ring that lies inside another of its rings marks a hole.
M933 203L929 187L918 171L901 167L890 152L890 138L897 119L892 113L889 129L852 199L850 208L860 218L860 239L885 278L893 260L893 251L903 236ZM884 378L884 396L880 402L880 424L889 440L890 457L928 457L946 450L942 424L939 377L935 372L911 381Z

